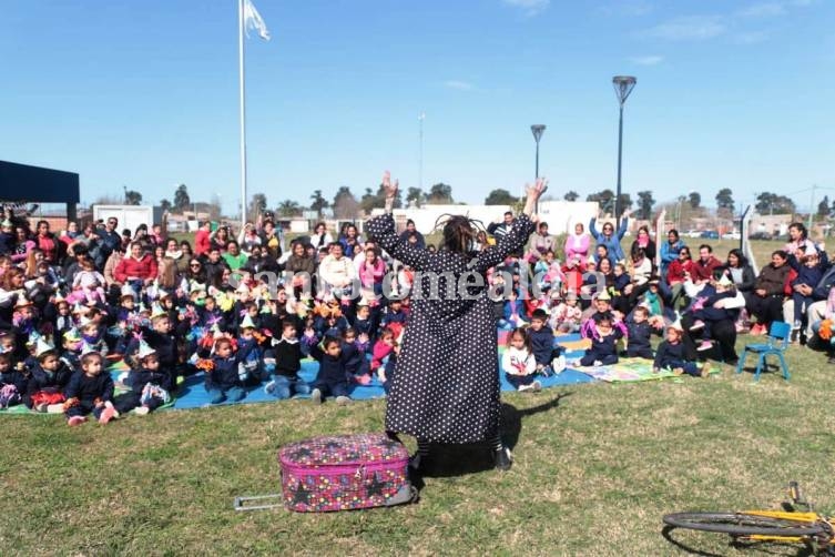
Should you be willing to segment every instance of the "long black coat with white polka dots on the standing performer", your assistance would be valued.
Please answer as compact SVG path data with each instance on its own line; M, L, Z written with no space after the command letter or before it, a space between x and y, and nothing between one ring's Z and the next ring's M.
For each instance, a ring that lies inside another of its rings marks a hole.
M409 324L388 395L386 428L438 443L492 439L499 427L499 372L486 273L522 249L533 231L530 220L520 215L498 245L472 261L452 252L431 254L403 242L391 215L370 220L366 230L393 257L416 271ZM428 278L420 281L418 296L420 272L445 274L436 283L440 296L431 296L432 281ZM481 275L485 286L470 287L470 295L462 295L458 285L466 274Z

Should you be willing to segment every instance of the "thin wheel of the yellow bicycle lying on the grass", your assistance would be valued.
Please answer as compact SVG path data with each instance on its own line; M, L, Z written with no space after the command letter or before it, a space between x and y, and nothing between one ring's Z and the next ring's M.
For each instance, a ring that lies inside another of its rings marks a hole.
M731 536L815 536L824 533L818 523L800 523L745 513L673 513L664 524L691 530L717 531Z

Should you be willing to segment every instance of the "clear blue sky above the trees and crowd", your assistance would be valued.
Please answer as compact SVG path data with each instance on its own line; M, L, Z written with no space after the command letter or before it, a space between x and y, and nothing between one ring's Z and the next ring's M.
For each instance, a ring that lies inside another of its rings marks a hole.
M518 192L544 123L551 193L614 189L713 204L812 184L835 194L835 7L828 0L254 0L250 194L271 206L358 195L390 169L457 200ZM139 190L240 199L236 0L4 2L0 159L75 171L84 202ZM808 194L796 195L800 206Z

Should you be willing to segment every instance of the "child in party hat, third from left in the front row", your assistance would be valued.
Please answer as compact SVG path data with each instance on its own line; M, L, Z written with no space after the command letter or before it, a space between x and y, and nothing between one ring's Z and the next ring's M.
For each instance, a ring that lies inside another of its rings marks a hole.
M171 401L171 375L160 367L156 351L145 341L140 341L135 359L139 366L128 375L131 391L119 396L114 404L122 414L135 408L136 414L144 416Z

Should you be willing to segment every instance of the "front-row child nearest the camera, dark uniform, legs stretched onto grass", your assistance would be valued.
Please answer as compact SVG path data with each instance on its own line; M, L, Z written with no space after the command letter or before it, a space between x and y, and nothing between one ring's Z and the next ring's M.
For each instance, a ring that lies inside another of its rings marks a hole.
M64 415L70 426L86 422L88 414L100 424L119 417L113 406L113 378L104 369L104 358L98 352L86 352L81 356L81 371L72 374L64 395Z

